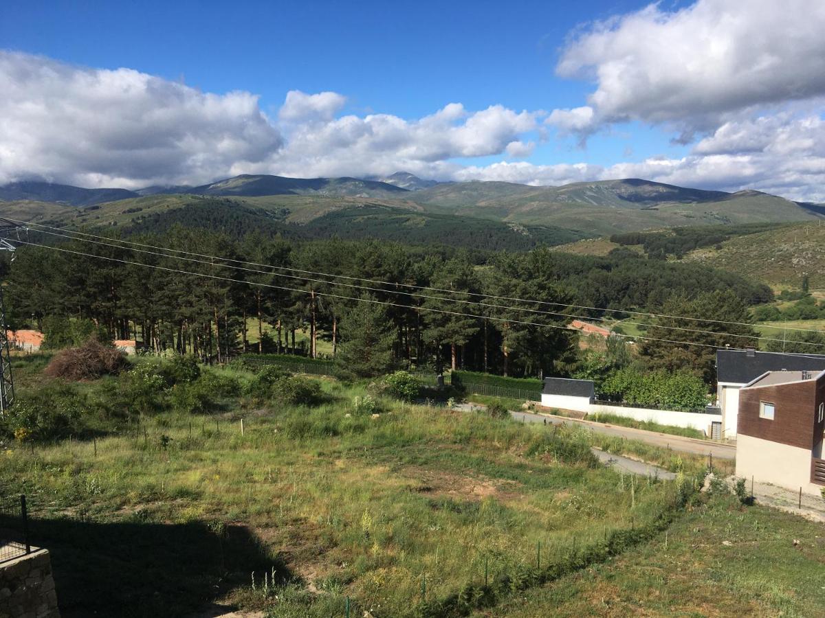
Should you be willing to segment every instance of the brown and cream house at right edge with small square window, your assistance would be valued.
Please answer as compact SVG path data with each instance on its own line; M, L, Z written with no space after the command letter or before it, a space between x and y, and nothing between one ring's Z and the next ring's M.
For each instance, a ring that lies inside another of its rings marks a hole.
M825 371L766 372L738 391L736 475L807 494L825 486Z

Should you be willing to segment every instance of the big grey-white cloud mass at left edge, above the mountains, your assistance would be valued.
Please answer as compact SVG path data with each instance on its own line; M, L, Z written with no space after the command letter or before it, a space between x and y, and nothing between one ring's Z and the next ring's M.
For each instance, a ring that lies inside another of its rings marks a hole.
M281 133L247 92L203 93L128 68L0 51L0 182L200 180L260 162Z

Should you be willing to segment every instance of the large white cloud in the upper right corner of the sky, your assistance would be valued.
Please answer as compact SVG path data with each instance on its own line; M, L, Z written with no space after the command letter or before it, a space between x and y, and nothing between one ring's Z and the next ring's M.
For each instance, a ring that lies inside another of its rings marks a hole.
M657 3L598 22L557 66L560 76L596 82L591 123L576 110L550 118L577 131L634 119L670 124L686 142L743 111L823 96L823 25L821 0L698 0L672 12Z

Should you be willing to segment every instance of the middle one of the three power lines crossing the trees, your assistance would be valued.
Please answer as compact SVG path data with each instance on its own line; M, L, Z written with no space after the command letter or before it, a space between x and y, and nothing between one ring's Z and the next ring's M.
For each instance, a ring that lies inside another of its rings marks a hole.
M584 319L584 320L592 319L592 320L603 321L603 322L609 321L607 318L603 318L603 317L590 317L590 318L588 318L587 316L577 316L577 315L574 315L574 314L562 313L562 312L559 312L559 311L547 311L547 310L543 310L543 309L530 309L529 307L509 307L509 306L506 306L506 305L497 305L497 304L490 303L490 302L468 301L468 300L462 300L460 298L435 297L435 296L430 296L428 294L422 294L422 293L403 292L403 291L400 291L400 290L386 290L386 289L381 289L381 288L372 288L370 286L356 285L354 283L340 283L340 282L337 282L337 281L326 281L326 280L323 280L323 279L313 279L311 277L299 276L299 275L294 275L294 274L272 273L272 272L265 271L265 270L260 270L260 269L250 269L250 268L243 267L243 266L233 266L233 265L228 265L228 264L219 264L219 263L215 263L213 261L197 260L195 258L189 258L189 257L185 257L185 256L180 256L180 255L167 255L167 254L163 254L163 253L158 253L157 251L150 251L150 250L144 250L144 249L135 249L134 247L123 247L123 246L120 246L120 245L112 244L111 242L94 241L94 240L89 240L89 239L86 239L86 238L75 238L73 236L68 236L66 234L61 234L59 232L45 232L44 231L44 232L40 232L40 233L49 234L50 236L60 236L60 237L63 237L63 238L67 238L69 240L74 240L74 241L89 242L89 243L92 243L92 244L95 244L95 245L109 246L109 247L112 247L112 248L115 248L115 249L120 249L120 250L137 251L139 253L144 253L144 254L147 254L147 255L157 255L158 257L165 257L165 258L169 258L169 259L172 259L172 260L185 260L185 261L189 261L189 262L195 262L197 264L205 264L205 265L210 265L210 266L219 266L219 267L223 267L223 268L238 269L238 270L243 270L243 271L246 271L246 272L258 273L258 274L268 274L268 275L271 275L271 276L274 276L274 277L285 277L285 278L288 278L288 279L299 279L301 281L311 281L311 282L314 282L314 283L323 283L323 284L326 284L326 285L337 285L337 286L342 286L342 287L347 287L347 288L367 290L367 291L370 291L370 292L404 294L404 295L409 296L409 297L421 297L421 298L427 298L427 299L431 299L431 300L441 300L441 301L445 301L445 302L458 302L458 303L462 303L462 304L465 304L465 305L476 305L476 306L482 306L482 307L495 307L495 308L498 308L498 309L507 309L507 310L510 310L510 311L528 311L530 313L538 313L538 314L549 315L549 316L561 316L561 317L566 317L566 318L578 318L578 319ZM188 254L188 255L199 255L199 254L193 254L193 253L188 252L188 251L179 251L179 250L174 250L174 249L168 249L167 247L157 247L157 248L159 250L164 250L164 251L171 251L171 252L176 252L176 253L185 253L185 254ZM234 261L234 262L237 262L237 263L240 263L240 264L252 264L251 262L243 262L241 260L229 260L229 259L224 259L224 258L214 258L214 259ZM332 277L332 276L336 276L336 275L324 275L324 276ZM348 279L355 279L355 278L348 278ZM629 324L629 325L639 325L639 326L644 325L640 322L632 322L632 321L625 321L624 323ZM776 339L776 338L773 338L773 337L764 337L764 336L760 336L760 335L740 335L740 334L737 334L737 333L728 333L728 332L721 332L720 333L720 332L715 332L715 331L712 331L712 330L692 329L692 328L687 328L685 326L657 325L656 327L666 329L666 330L681 330L681 331L686 332L686 333L697 333L697 334L702 334L702 335L725 335L725 336L728 336L728 337L736 337L736 338L739 338L739 339L757 339L757 340L762 340L762 341L775 341L777 343L785 343L785 339ZM819 348L825 347L822 344L803 342L803 341L796 342L796 343L802 344L802 345L809 345L809 346L819 347Z

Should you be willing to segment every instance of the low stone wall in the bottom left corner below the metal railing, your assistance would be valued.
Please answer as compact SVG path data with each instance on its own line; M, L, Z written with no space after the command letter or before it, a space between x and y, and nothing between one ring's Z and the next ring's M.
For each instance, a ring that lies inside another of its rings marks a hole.
M0 564L0 618L60 618L47 550Z

